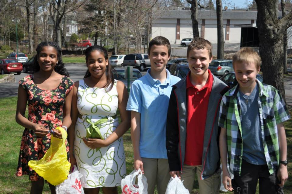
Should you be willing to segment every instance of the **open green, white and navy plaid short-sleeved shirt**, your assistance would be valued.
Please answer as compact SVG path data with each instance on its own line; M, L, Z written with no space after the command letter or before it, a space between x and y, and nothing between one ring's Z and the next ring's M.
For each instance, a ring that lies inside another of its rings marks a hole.
M290 119L285 102L276 88L259 84L259 116L262 144L269 173L276 172L279 165L279 143L277 124ZM234 175L240 175L243 153L241 109L238 85L224 94L219 112L219 126L227 130L228 163Z

